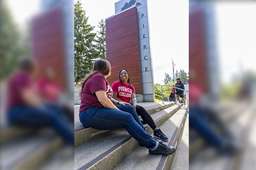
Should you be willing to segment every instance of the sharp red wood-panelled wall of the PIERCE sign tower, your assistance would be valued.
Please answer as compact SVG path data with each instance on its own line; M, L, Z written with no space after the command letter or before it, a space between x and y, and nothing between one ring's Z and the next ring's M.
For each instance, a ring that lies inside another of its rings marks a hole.
M111 64L109 84L118 81L120 70L126 69L136 94L142 94L139 52L137 8L106 19L106 59Z

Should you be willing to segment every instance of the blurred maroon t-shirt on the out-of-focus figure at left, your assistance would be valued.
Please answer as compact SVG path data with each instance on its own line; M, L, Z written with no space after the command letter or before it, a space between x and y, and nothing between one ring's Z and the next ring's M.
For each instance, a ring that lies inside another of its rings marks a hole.
M15 74L8 84L8 108L12 108L15 105L24 105L25 102L22 99L21 91L24 88L33 88L33 82L31 77L26 72L18 72Z

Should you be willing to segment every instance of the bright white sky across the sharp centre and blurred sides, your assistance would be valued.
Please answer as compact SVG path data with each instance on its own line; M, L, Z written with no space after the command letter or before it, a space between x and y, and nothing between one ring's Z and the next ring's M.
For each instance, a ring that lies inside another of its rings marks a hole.
M88 22L96 26L100 19L115 14L117 0L82 0ZM216 4L216 33L221 81L229 81L233 73L255 66L255 3ZM38 13L39 0L8 0L15 22L22 25ZM154 82L163 84L164 72L189 71L189 3L188 0L148 0L150 47L153 59ZM95 31L96 31L95 30Z

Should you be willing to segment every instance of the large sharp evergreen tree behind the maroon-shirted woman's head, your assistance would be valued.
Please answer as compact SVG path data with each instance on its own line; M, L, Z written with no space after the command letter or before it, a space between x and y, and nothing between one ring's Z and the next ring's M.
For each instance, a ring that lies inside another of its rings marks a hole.
M97 51L94 27L88 24L85 10L81 1L77 1L74 9L74 81L77 83L90 73L93 62L99 58Z

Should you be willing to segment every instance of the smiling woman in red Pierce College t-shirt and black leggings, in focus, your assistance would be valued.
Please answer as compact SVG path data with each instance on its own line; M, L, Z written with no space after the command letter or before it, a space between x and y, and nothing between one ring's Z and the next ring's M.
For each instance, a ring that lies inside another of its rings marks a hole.
M132 102L134 109L142 120L145 121L153 130L154 137L161 139L162 141L168 141L168 137L156 126L156 123L150 116L150 114L141 105L137 105L135 89L130 84L130 77L127 70L121 70L119 73L119 81L112 84L113 98L120 102Z

